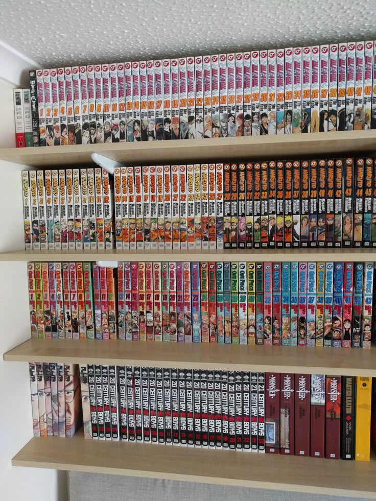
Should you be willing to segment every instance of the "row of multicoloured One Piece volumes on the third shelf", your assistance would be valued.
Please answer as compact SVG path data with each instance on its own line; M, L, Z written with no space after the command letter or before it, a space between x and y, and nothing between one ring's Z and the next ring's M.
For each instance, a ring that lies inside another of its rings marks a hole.
M370 348L374 263L29 263L31 335Z

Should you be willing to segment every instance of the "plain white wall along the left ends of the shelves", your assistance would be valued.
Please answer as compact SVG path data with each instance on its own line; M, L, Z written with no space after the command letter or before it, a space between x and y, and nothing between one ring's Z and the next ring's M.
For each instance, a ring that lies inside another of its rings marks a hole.
M15 146L12 88L0 80L0 148ZM0 160L0 252L23 248L22 168ZM65 501L64 472L11 465L33 436L28 364L2 356L30 338L26 272L26 263L0 261L0 499Z

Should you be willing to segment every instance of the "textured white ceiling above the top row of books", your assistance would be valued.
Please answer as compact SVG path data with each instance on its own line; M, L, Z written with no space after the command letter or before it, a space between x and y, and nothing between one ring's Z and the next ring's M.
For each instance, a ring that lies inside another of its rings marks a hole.
M376 38L376 0L0 0L0 40L44 67Z

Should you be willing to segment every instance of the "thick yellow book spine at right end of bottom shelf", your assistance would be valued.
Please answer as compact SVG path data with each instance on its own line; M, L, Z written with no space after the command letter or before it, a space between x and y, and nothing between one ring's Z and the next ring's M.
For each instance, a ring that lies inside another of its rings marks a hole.
M357 376L355 459L369 461L371 440L371 377Z

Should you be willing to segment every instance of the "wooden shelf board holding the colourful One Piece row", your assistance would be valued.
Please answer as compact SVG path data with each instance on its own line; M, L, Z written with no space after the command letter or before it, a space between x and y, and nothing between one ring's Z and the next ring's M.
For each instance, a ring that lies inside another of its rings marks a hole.
M376 349L29 339L4 360L376 377Z

